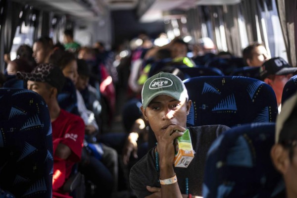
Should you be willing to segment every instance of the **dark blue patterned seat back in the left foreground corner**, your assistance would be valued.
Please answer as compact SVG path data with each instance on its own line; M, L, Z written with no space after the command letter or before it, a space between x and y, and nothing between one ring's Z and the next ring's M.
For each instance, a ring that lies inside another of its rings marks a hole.
M0 189L16 198L51 198L52 138L45 101L25 89L0 89Z

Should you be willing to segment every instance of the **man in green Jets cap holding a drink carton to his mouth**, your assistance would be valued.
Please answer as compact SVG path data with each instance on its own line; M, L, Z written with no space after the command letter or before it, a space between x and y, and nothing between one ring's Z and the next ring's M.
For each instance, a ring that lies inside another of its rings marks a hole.
M174 167L173 142L186 130L192 101L184 83L173 74L150 77L142 90L141 110L157 139L156 147L130 172L131 188L138 198L188 198L201 196L206 153L223 131L223 125L189 127L194 159L187 168Z

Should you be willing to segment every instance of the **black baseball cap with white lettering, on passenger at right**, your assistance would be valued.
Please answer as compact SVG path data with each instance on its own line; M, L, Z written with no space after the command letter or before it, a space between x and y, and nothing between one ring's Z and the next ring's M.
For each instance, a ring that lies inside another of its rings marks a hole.
M270 75L288 75L297 71L297 67L292 67L281 57L271 58L265 61L260 68L260 78L263 80Z

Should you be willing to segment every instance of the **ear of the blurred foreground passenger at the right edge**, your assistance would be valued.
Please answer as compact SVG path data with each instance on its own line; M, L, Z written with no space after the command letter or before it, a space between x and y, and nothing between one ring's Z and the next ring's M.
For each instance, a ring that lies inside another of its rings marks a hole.
M275 168L284 175L290 165L288 150L280 144L275 144L271 148L270 155Z

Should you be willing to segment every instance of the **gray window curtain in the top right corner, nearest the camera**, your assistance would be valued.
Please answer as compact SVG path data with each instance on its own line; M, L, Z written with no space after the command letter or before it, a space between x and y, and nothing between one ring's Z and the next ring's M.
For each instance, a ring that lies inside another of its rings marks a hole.
M289 64L296 67L297 0L277 0L277 9L284 36Z

